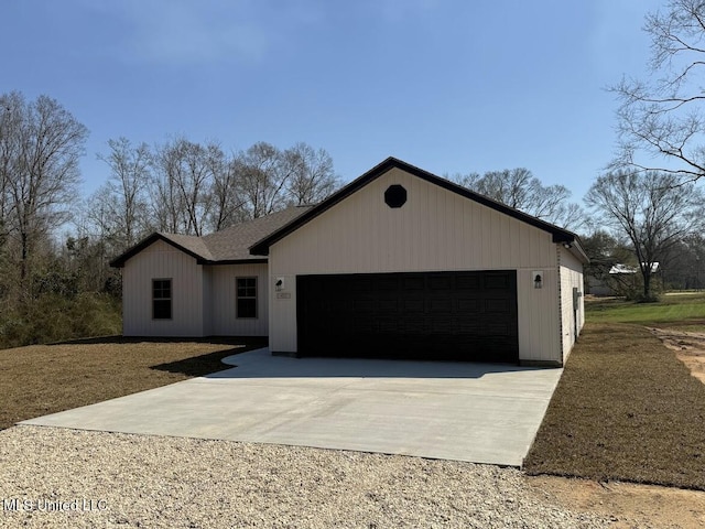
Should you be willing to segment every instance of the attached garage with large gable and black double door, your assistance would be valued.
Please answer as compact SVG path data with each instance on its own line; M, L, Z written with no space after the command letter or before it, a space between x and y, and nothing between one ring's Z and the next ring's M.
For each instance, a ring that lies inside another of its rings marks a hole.
M274 354L561 366L578 237L390 158L250 248Z

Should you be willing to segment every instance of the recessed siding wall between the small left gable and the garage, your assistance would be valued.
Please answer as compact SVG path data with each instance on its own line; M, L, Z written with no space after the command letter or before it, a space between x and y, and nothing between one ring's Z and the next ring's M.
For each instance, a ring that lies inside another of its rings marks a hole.
M269 278L267 263L205 267L210 279L204 305L209 314L208 334L215 336L267 336L269 330ZM236 278L257 278L257 317L236 317Z

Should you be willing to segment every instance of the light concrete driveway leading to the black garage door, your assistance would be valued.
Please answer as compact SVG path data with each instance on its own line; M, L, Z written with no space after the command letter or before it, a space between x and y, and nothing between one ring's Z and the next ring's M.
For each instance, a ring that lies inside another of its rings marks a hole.
M521 466L562 369L273 357L21 424Z

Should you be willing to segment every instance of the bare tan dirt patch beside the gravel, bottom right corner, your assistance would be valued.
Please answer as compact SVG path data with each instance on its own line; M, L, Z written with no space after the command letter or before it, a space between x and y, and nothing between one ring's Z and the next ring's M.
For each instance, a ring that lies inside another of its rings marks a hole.
M527 476L527 481L538 498L573 511L609 516L618 529L633 527L626 519L662 528L705 527L703 492L555 476Z

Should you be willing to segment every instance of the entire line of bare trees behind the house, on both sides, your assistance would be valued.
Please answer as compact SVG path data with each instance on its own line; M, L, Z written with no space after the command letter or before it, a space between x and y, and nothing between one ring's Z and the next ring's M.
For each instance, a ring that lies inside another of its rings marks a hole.
M118 138L98 153L107 181L84 198L87 137L55 99L0 95L0 347L118 333L120 274L108 262L152 231L200 236L321 202L339 186L330 155L306 143L228 151L184 137L152 145ZM641 283L625 295L650 301L705 280L705 197L680 176L604 174L584 199L588 210L522 168L452 179L583 233L586 272L609 279L614 264L639 268Z

